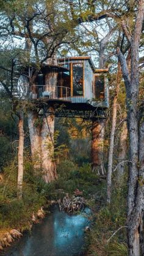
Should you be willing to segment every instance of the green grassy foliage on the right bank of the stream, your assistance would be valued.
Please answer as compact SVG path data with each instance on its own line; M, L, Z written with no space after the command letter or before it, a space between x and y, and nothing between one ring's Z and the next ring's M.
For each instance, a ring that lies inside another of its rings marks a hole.
M109 241L110 236L124 226L126 222L126 181L123 188L113 189L112 202L106 206L102 203L95 214L95 224L90 233L89 251L92 255L128 255L126 247L126 229L119 230Z

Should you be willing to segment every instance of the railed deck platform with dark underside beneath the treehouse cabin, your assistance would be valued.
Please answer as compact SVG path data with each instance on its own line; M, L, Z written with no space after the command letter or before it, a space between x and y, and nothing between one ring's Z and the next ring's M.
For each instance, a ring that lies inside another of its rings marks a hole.
M104 101L96 103L84 97L71 97L68 87L34 85L30 100L40 109L40 115L44 112L52 114L49 112L49 106L52 106L56 117L80 117L85 120L106 118Z

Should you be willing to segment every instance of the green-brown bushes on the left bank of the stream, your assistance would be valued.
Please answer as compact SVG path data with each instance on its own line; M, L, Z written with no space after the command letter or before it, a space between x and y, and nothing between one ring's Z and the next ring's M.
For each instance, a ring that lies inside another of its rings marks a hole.
M49 185L42 181L41 175L34 175L34 168L29 158L24 162L23 199L21 200L16 197L16 159L4 168L4 180L0 183L0 229L29 229L32 212L37 212L46 202Z

